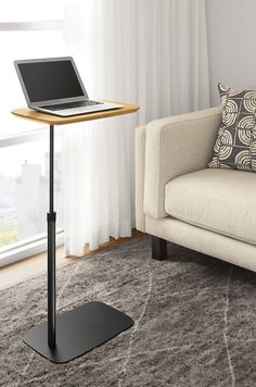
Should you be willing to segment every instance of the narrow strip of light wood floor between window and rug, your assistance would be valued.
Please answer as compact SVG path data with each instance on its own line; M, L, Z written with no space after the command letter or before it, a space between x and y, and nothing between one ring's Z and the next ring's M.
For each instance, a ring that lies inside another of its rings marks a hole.
M98 250L90 251L88 245L85 248L85 259L94 254L98 251L102 251L104 249L118 246L125 244L133 238L139 238L144 234L138 232L137 229L132 230L131 238L119 238L114 239L110 238L110 241L100 246ZM68 264L72 261L75 261L76 257L64 257L64 247L60 247L56 249L56 266L63 266ZM0 289L5 287L15 285L26 278L33 277L39 273L43 273L47 271L47 253L40 253L34 257L29 257L25 260L12 263L0 270Z

